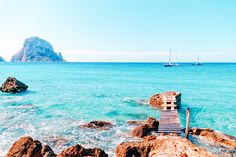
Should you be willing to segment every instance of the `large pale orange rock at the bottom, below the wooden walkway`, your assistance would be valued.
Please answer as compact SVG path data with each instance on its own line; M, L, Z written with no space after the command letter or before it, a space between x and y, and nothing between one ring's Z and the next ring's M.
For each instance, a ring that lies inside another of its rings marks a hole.
M146 138L141 142L123 142L116 147L116 157L213 157L206 150L181 137L161 136Z

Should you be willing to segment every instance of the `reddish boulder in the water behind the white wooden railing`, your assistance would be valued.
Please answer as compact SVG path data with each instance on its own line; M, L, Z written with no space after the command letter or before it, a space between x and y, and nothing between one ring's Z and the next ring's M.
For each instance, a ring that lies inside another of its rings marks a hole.
M169 91L169 92L165 92L165 93L160 93L160 94L155 94L153 96L150 97L149 100L149 104L151 106L153 106L154 108L159 108L162 109L163 108L163 100L167 99L167 98L171 98L174 97L176 99L176 104L177 107L181 105L181 93L179 92L174 92L174 91Z

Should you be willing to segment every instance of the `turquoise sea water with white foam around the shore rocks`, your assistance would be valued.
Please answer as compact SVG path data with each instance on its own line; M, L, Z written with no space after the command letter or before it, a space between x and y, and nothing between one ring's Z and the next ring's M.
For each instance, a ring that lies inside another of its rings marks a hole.
M132 126L127 120L159 118L143 100L155 93L182 93L180 117L191 126L236 136L236 64L166 68L155 63L1 63L0 82L14 76L29 85L20 94L0 93L0 156L30 135L55 152L80 143L110 155ZM91 120L114 124L107 131L81 129Z

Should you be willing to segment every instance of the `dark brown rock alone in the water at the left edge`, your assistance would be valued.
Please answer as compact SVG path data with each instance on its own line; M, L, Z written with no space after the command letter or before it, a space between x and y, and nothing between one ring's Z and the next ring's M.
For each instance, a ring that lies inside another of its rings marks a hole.
M0 90L6 93L20 93L27 90L28 86L23 82L13 77L8 77L7 80L2 84Z

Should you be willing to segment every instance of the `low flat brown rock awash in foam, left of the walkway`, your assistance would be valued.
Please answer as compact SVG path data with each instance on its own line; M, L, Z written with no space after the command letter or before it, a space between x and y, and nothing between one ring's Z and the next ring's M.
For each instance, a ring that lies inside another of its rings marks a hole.
M90 129L99 129L107 130L112 126L110 122L105 121L92 121L83 125L80 125L81 128L90 128Z

